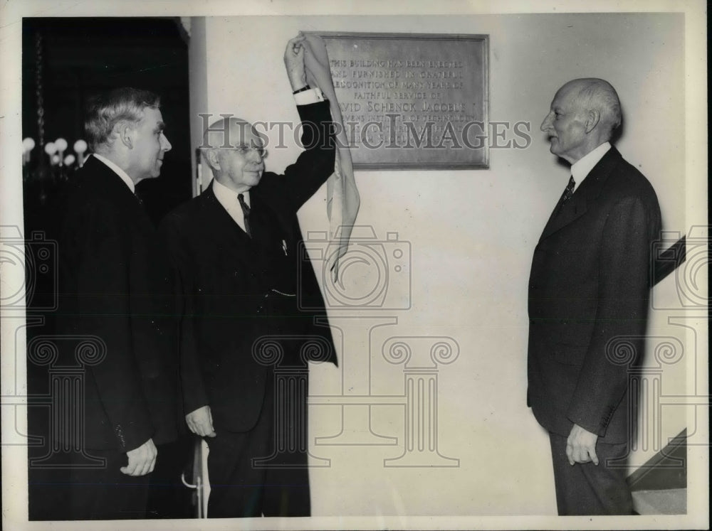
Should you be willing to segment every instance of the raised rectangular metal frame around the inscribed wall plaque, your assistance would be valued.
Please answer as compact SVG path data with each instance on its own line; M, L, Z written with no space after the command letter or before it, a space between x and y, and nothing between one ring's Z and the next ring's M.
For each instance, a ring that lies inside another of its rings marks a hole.
M428 43L438 43L446 41L449 44L452 43L477 43L481 47L481 69L478 70L478 74L481 79L480 87L473 87L474 90L479 91L480 100L482 102L481 108L478 109L481 112L481 119L477 122L482 122L482 137L484 139L483 146L481 149L466 149L463 151L468 151L471 153L471 158L465 161L384 161L384 160L372 160L372 161L362 161L359 160L357 154L352 149L353 166L356 170L470 170L470 169L489 169L489 144L490 144L490 132L489 132L489 35L488 34L468 34L468 33L372 33L372 32L349 32L349 31L304 31L304 33L310 33L317 35L325 41L327 50L329 50L329 41L334 39L341 40L372 40L372 41L421 41L424 44ZM330 55L330 61L334 58ZM467 65L468 73L473 73L476 70L473 63ZM475 80L471 78L471 82L475 84ZM337 96L339 95L340 89L336 88ZM387 101L387 100L384 100ZM341 100L340 100L341 103ZM346 120L345 120L346 122ZM441 159L447 159L451 148L444 148L440 152ZM373 150L373 154L376 156L377 151ZM372 155L373 156L373 155Z

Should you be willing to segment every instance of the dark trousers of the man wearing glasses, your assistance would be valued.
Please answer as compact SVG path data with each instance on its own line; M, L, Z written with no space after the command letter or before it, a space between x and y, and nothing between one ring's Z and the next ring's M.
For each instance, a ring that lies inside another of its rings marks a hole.
M305 369L307 370L307 369ZM291 451L280 451L276 440L273 378L268 377L262 412L253 429L235 433L215 426L216 436L206 437L209 446L208 517L309 516L309 471L306 452L306 390L289 392L286 401L296 407L303 420L289 422L285 432ZM283 402L281 402L283 403ZM290 408L293 411L293 409ZM278 417L288 417L285 411ZM239 412L235 412L239 414ZM266 464L253 459L275 459ZM256 466L257 465L257 466Z

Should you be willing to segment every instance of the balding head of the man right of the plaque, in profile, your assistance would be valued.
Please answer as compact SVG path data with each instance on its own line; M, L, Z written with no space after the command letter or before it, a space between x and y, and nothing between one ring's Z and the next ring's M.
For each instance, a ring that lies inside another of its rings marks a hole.
M620 123L614 88L605 80L586 77L557 90L541 130L548 134L553 154L575 163L609 141Z

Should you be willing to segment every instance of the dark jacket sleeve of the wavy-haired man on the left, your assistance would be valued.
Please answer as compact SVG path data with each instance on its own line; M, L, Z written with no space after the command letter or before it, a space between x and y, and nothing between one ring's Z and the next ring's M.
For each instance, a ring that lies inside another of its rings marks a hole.
M117 448L125 452L153 436L141 367L132 342L131 249L115 213L94 209L81 221L74 229L78 256L73 257L78 318L83 333L98 336L106 346L105 358L88 371L112 424Z

